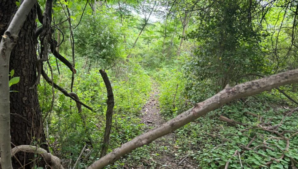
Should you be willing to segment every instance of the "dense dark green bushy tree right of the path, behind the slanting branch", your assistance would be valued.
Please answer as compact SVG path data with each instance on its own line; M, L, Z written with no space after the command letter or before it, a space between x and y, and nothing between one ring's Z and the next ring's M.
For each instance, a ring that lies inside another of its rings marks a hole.
M258 45L262 37L253 30L247 18L249 6L245 4L235 1L214 4L216 12L198 18L198 28L188 35L197 39L199 45L196 57L186 66L189 79L210 79L222 89L235 84L242 75L264 72L266 60L260 57Z

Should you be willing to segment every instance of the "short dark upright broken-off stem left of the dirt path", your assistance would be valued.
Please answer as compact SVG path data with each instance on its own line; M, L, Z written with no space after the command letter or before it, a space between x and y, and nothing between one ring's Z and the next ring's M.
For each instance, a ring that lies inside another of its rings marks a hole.
M104 80L104 84L106 85L107 88L107 94L108 94L108 100L107 100L107 112L106 112L106 128L104 131L104 141L103 141L103 146L101 148L101 153L100 157L103 157L107 154L108 150L108 145L110 141L110 133L112 129L112 117L113 117L113 108L114 108L114 94L113 94L113 89L111 86L111 83L109 81L107 73L103 70L99 70L102 79Z

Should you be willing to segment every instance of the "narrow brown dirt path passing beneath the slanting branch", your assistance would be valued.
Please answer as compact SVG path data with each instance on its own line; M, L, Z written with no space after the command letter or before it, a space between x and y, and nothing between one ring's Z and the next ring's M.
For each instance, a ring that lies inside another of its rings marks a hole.
M154 81L152 84L150 99L141 111L141 122L146 124L148 130L166 122L160 114L158 85ZM159 169L198 168L198 165L191 159L188 159L187 155L177 156L179 147L176 146L175 140L175 134L170 133L153 141L151 144L154 144L155 148L150 150L152 158L148 162L156 164L154 168Z

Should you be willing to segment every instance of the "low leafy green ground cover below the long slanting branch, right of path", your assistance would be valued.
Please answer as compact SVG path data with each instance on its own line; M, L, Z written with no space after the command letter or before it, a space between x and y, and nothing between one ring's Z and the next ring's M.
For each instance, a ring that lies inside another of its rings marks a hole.
M267 94L261 94L259 96L267 96ZM256 96L252 99L256 99L259 96ZM252 102L250 102L252 103ZM241 145L246 145L249 143L251 138L256 135L255 141L252 143L254 147L259 147L254 150L257 151L244 151L241 154L241 161L244 168L255 168L259 166L265 167L265 163L270 161L269 157L280 158L284 153L286 148L285 140L272 139L274 136L271 132L264 132L264 130L253 128L243 132L245 127L231 127L227 126L225 122L218 120L219 115L227 116L233 120L249 124L251 126L256 126L260 123L257 117L245 115L245 112L252 112L259 116L262 116L264 119L269 120L272 126L279 124L280 120L283 118L283 112L285 109L272 109L267 104L263 106L262 104L253 104L253 108L243 108L243 103L237 101L233 104L225 105L222 108L214 110L204 118L199 118L195 122L186 125L183 128L177 130L177 143L182 147L181 152L188 152L193 159L197 160L200 166L203 168L221 168L225 166L225 163L229 161L229 167L232 168L241 168L239 157L233 156L236 150L242 151ZM287 117L282 128L297 130L297 115L292 115ZM291 122L290 122L291 121ZM265 120L265 122L267 122ZM200 131L200 132L198 132ZM211 134L211 135L207 135ZM213 136L212 136L213 135ZM218 135L216 137L216 135ZM260 137L264 136L263 138ZM287 135L290 136L291 134ZM288 151L284 153L286 156L298 159L296 155L298 153L297 146L297 136L294 136L290 140L290 147ZM266 140L267 144L270 144L270 149L260 148L258 142L264 142ZM275 146L274 146L275 145ZM276 147L277 146L277 147ZM280 147L281 149L279 149ZM270 168L288 168L291 165L289 158L280 160L280 162L274 161Z

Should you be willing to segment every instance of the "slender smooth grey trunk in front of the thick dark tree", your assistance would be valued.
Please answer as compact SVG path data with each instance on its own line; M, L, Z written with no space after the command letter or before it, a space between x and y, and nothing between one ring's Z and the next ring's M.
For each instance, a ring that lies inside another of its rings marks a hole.
M29 11L36 0L24 0L2 36L0 43L0 151L2 168L12 168L10 158L9 59Z

